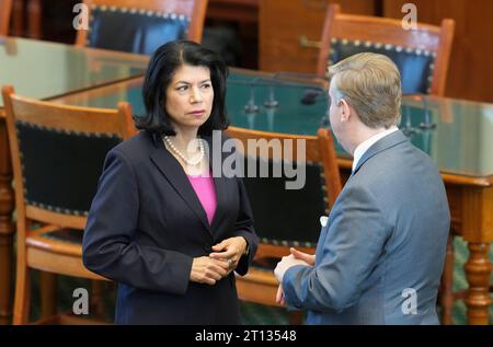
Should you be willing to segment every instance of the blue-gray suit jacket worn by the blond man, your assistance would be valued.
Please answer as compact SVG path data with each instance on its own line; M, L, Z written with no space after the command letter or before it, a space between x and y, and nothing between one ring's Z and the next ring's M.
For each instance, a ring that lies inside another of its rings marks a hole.
M314 267L283 280L309 324L438 324L450 213L432 160L401 132L359 160L321 230Z

